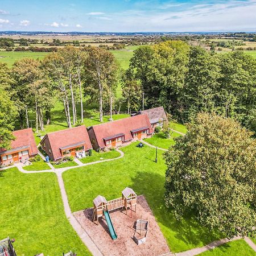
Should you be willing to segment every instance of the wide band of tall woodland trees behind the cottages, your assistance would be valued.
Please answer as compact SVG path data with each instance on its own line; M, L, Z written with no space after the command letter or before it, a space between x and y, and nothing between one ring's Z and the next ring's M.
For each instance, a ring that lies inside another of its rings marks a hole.
M100 121L113 110L163 105L183 123L199 112L215 112L256 130L256 60L238 51L220 54L167 41L139 47L125 72L104 48L68 46L42 61L22 59L10 69L1 64L0 72L1 146L14 122L30 126L28 112L35 113L35 131L44 130L56 98L63 102L68 127L83 122L85 98L86 104L98 102ZM117 86L122 87L118 99Z

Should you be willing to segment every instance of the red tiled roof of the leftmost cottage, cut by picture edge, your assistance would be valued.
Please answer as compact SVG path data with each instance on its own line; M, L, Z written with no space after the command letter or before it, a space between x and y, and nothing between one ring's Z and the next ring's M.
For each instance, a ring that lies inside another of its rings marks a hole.
M13 131L15 140L11 142L11 150L14 148L22 148L24 146L29 146L30 155L38 154L38 148L36 147L36 142L32 128ZM6 151L5 148L0 148L0 152Z

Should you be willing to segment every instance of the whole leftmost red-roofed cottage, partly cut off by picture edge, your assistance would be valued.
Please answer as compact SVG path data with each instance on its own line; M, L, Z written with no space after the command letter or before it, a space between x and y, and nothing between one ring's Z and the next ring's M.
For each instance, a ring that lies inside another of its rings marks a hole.
M38 148L31 128L13 131L15 137L11 148L0 148L0 166L8 166L16 162L24 162L38 154Z

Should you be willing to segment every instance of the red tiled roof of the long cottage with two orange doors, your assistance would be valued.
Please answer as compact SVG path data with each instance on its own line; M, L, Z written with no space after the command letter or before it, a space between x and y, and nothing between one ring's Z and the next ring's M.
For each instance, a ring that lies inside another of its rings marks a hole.
M131 130L148 127L149 133L153 133L150 121L146 114L135 115L134 117L127 117L117 121L102 123L101 125L94 125L94 130L98 145L100 148L105 147L104 139L115 134L125 134L125 141L133 139Z

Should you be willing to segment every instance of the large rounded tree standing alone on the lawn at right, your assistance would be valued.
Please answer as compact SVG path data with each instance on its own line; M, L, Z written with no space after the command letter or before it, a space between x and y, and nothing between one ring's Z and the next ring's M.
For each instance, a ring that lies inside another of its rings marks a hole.
M200 113L165 155L166 204L228 237L255 226L256 141L231 118Z

